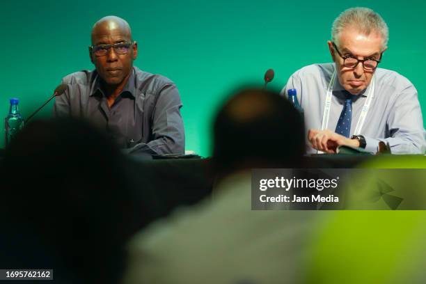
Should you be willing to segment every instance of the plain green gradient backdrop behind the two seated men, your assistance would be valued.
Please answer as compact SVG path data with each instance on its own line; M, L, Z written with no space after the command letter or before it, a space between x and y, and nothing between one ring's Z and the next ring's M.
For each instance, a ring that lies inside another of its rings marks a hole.
M23 116L42 104L66 74L92 69L87 46L94 22L118 15L139 42L135 65L178 85L187 150L210 155L214 113L235 86L281 89L295 70L331 60L326 46L333 19L368 6L390 29L382 68L400 72L426 109L426 4L423 1L8 1L1 3L0 117L19 97ZM50 116L52 103L40 116ZM4 144L1 127L0 147Z

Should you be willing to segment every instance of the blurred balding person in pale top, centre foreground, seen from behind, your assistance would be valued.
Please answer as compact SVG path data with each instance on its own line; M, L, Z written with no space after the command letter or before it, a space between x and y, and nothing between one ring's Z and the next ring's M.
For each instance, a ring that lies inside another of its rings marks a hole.
M214 123L213 198L129 244L123 283L294 283L317 212L252 211L251 168L301 166L301 116L278 93L246 89Z

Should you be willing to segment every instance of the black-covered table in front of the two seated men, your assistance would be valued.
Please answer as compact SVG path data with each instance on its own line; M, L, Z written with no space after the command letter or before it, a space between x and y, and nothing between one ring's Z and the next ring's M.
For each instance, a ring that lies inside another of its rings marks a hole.
M0 150L0 164L4 151ZM306 168L353 168L371 155L311 155ZM6 166L3 164L3 166ZM167 216L177 207L194 205L212 192L212 159L127 159L127 179L146 207L145 224Z

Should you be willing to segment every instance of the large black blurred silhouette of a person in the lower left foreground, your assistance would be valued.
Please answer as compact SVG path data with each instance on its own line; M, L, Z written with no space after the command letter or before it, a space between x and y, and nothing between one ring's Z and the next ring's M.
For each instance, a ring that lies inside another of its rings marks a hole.
M85 123L34 121L1 162L1 268L54 269L58 283L117 283L143 213L125 158Z

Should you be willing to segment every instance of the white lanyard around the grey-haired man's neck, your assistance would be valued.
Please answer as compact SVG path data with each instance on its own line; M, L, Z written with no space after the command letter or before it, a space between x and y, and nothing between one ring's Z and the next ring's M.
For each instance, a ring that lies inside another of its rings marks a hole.
M336 81L336 70L334 70L333 75L331 75L329 86L327 87L326 101L324 104L324 113L322 115L321 130L326 129L329 125L331 97L332 97L332 91L334 88L335 81ZM367 94L367 100L365 100L363 110L361 111L361 116L359 116L358 123L356 123L354 135L359 135L361 133L361 129L363 128L363 125L365 123L365 117L367 116L368 109L370 109L370 104L374 97L374 75L371 79L370 86L371 86L370 90L368 90L368 94Z

